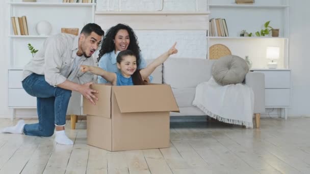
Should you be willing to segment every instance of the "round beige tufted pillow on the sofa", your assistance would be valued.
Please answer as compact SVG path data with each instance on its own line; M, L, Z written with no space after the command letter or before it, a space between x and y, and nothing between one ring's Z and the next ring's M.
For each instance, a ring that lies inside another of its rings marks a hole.
M223 56L212 67L212 76L221 85L242 83L248 72L249 66L237 55Z

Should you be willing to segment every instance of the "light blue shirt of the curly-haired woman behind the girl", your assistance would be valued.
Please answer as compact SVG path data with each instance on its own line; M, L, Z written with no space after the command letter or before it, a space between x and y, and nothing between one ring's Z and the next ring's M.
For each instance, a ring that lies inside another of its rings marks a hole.
M116 55L114 51L105 53L105 55L102 55L98 67L101 69L104 69L108 72L114 72L114 73L121 73L120 70L116 66ZM138 69L143 69L146 67L146 62L143 59L142 55L140 54L140 61L139 61L139 67ZM153 77L149 76L149 81L151 82ZM108 83L108 81L101 76L98 76L98 83Z

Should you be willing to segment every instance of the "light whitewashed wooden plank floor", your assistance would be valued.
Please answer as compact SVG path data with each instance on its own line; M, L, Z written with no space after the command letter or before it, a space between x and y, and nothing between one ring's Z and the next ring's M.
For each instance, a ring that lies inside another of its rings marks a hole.
M0 129L17 121L0 119ZM310 118L262 119L261 129L176 122L168 149L109 152L86 144L84 120L76 130L68 122L73 146L0 133L0 173L310 173L309 125Z

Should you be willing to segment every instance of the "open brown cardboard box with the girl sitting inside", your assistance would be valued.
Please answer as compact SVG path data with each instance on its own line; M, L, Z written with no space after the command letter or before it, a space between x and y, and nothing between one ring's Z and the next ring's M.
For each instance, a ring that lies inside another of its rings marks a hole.
M87 143L109 151L168 148L169 112L179 112L170 85L93 84L98 101L84 98Z

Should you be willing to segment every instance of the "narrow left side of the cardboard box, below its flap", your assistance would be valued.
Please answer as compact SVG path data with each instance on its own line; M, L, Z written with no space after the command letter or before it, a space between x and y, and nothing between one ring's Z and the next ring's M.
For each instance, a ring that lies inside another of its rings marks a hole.
M111 119L87 115L87 144L112 151Z

